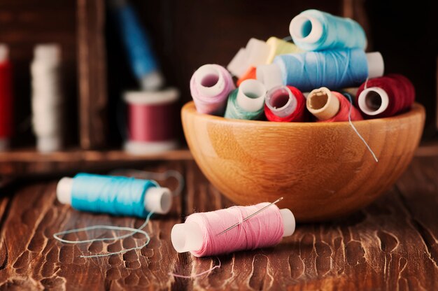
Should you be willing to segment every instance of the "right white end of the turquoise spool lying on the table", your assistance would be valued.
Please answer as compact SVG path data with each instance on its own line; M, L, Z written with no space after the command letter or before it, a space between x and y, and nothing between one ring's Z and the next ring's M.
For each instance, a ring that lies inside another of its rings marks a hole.
M172 194L168 188L150 187L146 191L144 204L148 212L166 214L172 206Z

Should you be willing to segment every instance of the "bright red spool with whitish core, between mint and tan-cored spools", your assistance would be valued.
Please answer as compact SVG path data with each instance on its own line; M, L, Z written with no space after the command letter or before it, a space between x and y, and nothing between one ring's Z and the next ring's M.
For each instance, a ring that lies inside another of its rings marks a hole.
M277 86L266 94L264 114L270 121L304 122L306 99L301 91L292 86Z

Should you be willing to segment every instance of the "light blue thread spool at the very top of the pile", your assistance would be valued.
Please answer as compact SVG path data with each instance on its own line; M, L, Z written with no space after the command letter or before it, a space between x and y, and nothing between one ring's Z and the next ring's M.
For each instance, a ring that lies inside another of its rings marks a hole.
M302 50L367 47L367 36L358 22L315 9L295 16L289 31Z

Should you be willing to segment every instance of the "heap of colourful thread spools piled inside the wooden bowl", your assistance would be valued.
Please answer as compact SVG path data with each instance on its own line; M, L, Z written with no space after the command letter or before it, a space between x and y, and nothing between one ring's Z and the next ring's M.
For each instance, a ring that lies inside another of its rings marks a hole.
M398 74L383 76L380 52L365 52L358 22L306 10L292 19L289 32L293 43L251 38L227 69L197 69L190 80L197 111L241 120L338 122L390 117L414 103L412 83Z

